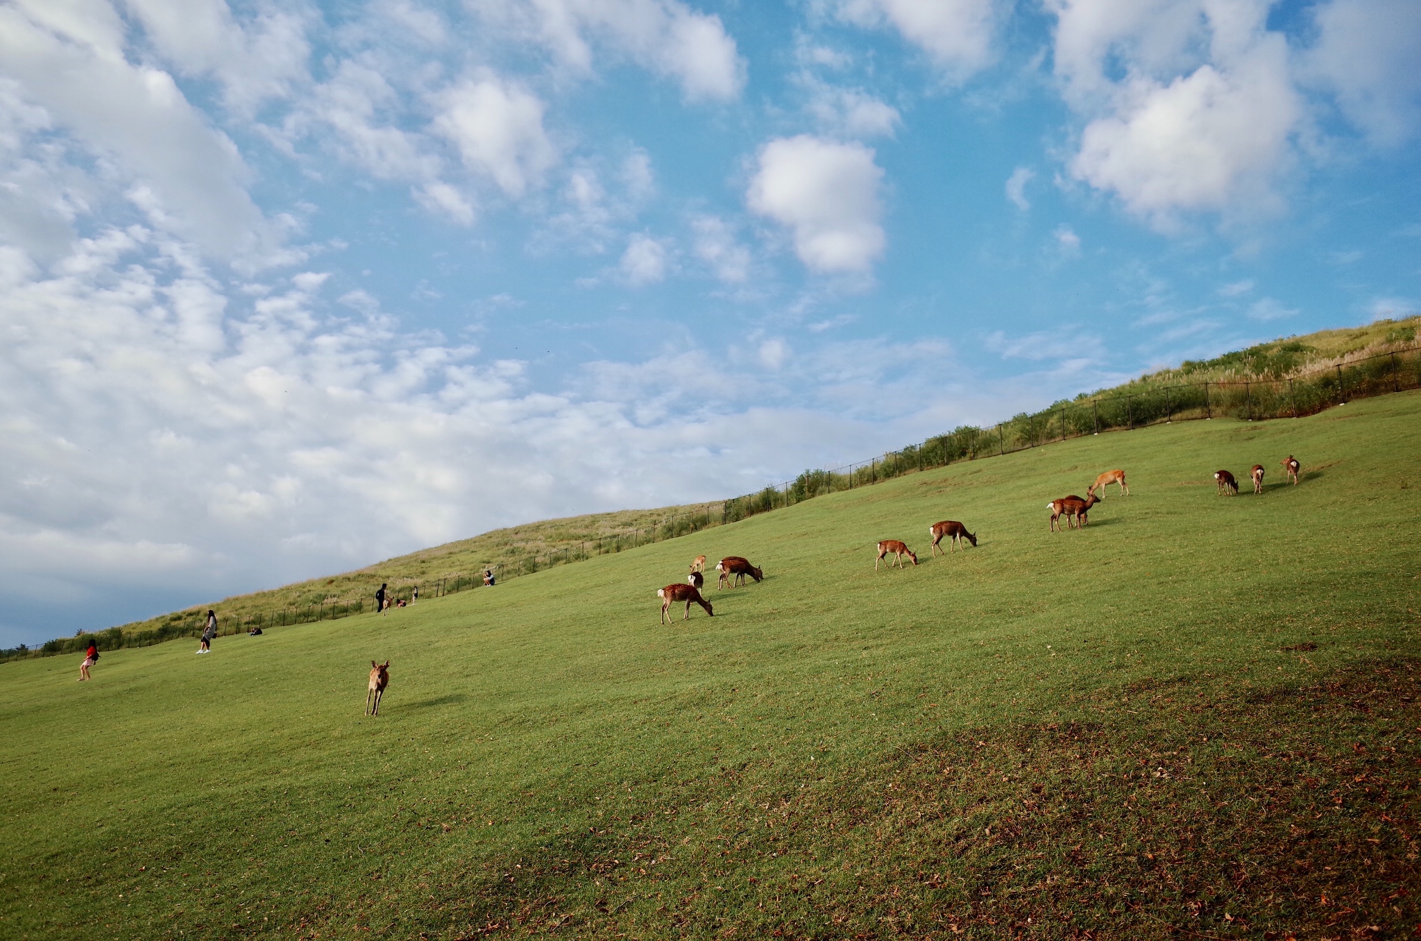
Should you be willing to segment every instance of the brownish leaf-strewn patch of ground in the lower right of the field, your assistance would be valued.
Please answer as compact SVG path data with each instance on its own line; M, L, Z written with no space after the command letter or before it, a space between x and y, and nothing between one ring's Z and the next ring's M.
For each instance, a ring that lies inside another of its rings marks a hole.
M1421 665L1393 661L1268 691L1117 691L1076 721L922 742L806 787L725 769L466 874L426 930L1411 937L1418 699Z

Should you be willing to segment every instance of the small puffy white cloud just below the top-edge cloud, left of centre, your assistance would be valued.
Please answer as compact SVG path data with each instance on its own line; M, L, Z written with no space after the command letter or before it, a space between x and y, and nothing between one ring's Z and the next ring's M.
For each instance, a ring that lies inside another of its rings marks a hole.
M543 102L502 78L465 80L441 95L433 128L452 141L465 166L493 179L512 198L541 185L557 162L543 129Z

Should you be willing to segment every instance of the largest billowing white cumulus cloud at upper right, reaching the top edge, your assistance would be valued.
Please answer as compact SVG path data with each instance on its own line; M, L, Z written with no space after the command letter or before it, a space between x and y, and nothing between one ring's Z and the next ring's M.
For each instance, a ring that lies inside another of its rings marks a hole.
M1088 121L1070 172L1171 227L1276 203L1304 118L1282 34L1252 0L1050 0L1056 74ZM1120 72L1118 77L1114 72Z

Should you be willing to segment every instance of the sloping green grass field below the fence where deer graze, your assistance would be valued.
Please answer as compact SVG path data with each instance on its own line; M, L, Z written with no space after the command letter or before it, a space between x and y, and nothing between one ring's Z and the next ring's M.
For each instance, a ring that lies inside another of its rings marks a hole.
M1418 455L1421 394L1155 426L88 684L6 664L0 937L1410 937ZM939 519L979 546L929 559ZM658 624L698 553L766 580Z

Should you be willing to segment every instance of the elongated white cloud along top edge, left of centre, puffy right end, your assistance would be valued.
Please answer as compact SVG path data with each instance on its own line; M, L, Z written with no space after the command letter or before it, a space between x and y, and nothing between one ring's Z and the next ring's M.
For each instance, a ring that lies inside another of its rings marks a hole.
M676 0L470 0L470 6L534 37L578 71L591 71L597 40L675 78L692 101L729 101L745 85L745 63L720 17Z

